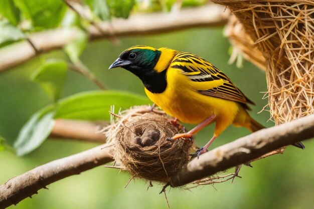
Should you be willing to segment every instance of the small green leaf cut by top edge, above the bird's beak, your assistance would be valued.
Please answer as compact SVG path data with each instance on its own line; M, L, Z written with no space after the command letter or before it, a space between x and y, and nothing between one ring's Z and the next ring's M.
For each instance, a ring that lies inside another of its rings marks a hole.
M117 18L128 18L135 0L106 0L110 16Z

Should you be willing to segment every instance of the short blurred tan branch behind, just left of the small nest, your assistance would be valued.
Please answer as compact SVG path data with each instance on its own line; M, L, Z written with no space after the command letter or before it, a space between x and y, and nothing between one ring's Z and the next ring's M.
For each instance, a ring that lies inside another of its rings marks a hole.
M106 125L108 123L103 121L91 122L57 119L50 137L104 143L106 142L106 136L102 133L97 133L97 131Z

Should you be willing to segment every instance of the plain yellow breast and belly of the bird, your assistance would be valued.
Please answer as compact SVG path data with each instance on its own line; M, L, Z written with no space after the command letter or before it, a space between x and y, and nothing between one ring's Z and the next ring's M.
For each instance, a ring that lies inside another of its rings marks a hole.
M175 70L167 72L167 88L163 93L153 94L147 89L145 92L148 98L166 113L184 123L200 123L215 114L217 125L227 127L242 108L237 102L197 92L189 78Z

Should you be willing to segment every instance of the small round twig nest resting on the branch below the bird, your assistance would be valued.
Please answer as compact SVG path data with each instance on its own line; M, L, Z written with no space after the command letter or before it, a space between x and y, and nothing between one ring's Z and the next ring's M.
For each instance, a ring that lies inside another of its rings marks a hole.
M169 182L189 162L190 140L169 141L182 132L163 112L151 112L148 106L131 108L104 129L114 146L115 165L130 172L132 178Z

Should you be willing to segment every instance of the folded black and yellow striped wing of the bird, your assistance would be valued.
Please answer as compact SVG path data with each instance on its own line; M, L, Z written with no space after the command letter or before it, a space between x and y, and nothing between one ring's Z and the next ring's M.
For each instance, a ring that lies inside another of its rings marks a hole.
M174 57L170 67L178 69L191 81L198 82L200 88L196 90L201 94L237 101L243 104L254 104L244 96L223 72L197 55L180 52ZM209 88L206 89L206 87ZM244 107L249 109L247 105L244 105Z

